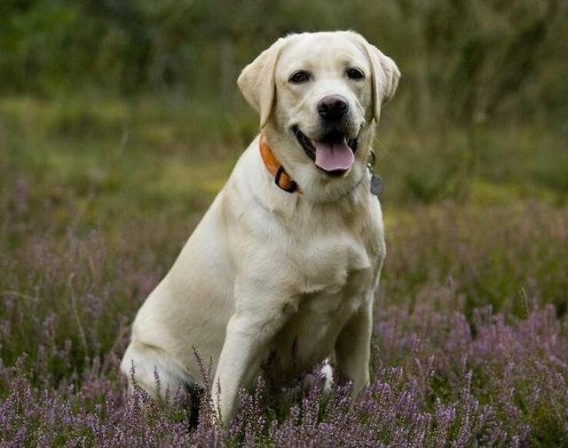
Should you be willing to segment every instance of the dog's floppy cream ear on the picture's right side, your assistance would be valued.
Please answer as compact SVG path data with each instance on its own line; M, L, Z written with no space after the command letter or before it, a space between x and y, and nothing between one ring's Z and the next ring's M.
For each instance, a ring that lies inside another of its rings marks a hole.
M391 60L375 45L369 44L363 37L365 51L371 61L371 76L373 88L373 116L375 122L379 122L381 107L390 101L397 91L400 71L394 60Z

